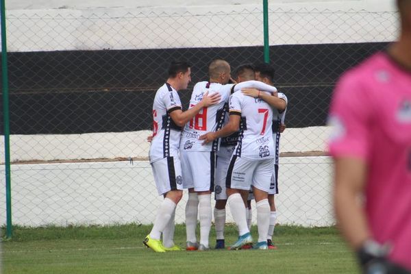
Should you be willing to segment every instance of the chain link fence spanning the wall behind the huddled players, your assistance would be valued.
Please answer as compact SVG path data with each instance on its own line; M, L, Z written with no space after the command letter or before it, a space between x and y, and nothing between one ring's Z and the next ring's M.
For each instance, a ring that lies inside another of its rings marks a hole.
M192 64L192 83L180 92L187 107L211 60L232 69L263 61L262 17L262 9L9 13L13 223L151 223L162 198L146 138L169 63ZM289 100L279 223L331 225L324 142L332 88L343 71L395 40L397 14L269 10L269 31L275 82Z

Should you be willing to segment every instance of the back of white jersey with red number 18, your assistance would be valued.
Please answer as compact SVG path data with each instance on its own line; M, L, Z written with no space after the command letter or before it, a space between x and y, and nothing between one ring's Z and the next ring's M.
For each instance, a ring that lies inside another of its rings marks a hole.
M216 151L218 140L210 142L208 145L202 145L202 141L198 140L198 138L208 132L215 132L223 126L225 105L228 103L232 86L232 84L223 85L207 81L195 84L192 90L189 108L199 103L206 92L208 92L209 95L215 92L220 93L221 100L215 105L203 108L193 119L186 123L182 134L180 150Z

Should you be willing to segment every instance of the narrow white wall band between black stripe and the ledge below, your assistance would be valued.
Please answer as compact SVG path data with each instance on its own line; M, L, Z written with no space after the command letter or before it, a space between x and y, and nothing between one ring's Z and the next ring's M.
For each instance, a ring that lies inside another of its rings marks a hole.
M288 128L282 134L280 152L325 151L330 127ZM93 134L38 134L10 136L12 162L135 158L147 160L148 130ZM0 140L4 155L4 140ZM3 162L3 158L0 159Z

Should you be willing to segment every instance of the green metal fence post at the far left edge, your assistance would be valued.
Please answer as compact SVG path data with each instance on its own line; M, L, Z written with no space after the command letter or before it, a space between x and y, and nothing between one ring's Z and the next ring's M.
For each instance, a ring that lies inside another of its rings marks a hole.
M6 238L12 238L12 190L10 176L10 116L7 71L7 42L5 39L5 0L1 2L1 75L3 76L3 121L4 121L4 162L5 162L5 203L7 215Z

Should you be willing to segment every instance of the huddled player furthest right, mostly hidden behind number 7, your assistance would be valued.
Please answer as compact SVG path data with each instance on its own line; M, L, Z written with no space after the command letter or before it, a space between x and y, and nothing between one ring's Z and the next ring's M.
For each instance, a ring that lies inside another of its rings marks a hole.
M265 84L274 86L273 79L275 70L269 64L257 64L254 66L256 71L256 80L261 81ZM269 203L270 203L270 227L269 234L267 236L267 245L269 249L277 249L273 244L273 233L275 228L275 222L277 221L277 211L275 209L275 199L274 195L278 194L278 162L279 162L279 137L280 132L284 132L285 125L284 119L286 115L286 108L288 104L288 99L286 95L282 92L278 92L273 95L268 95L266 93L260 93L259 90L255 88L244 88L242 93L249 95L251 97L257 98L260 94L260 98L269 103L273 107L273 140L275 142L275 168L273 170L273 176L271 177L271 186L269 191ZM248 205L251 209L251 205ZM250 214L251 215L251 214ZM251 221L250 221L251 223Z

